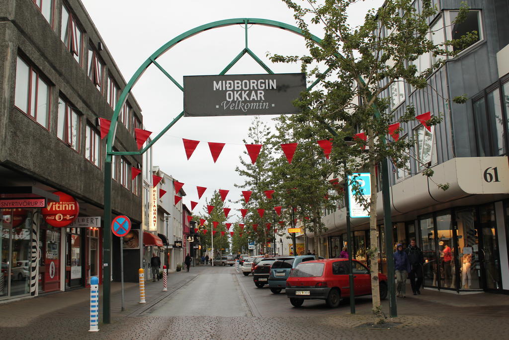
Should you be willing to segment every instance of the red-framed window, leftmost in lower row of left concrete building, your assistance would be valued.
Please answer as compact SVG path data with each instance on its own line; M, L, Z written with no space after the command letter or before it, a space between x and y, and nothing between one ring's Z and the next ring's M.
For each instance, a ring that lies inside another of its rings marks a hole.
M49 85L38 71L20 57L16 63L14 105L49 129Z

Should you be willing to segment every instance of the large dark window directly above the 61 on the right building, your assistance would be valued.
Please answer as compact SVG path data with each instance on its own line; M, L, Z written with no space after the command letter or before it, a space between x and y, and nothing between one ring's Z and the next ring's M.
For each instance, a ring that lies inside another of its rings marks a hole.
M505 154L504 119L500 90L489 92L473 102L477 151L479 156Z

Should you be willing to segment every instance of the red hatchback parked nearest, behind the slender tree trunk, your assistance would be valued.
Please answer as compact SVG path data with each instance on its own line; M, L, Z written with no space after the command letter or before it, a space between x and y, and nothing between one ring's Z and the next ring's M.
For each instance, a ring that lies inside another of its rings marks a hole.
M370 270L352 260L355 296L371 295ZM300 307L304 300L322 299L329 307L337 307L350 296L348 259L327 258L300 263L286 282L290 303ZM380 299L387 298L387 276L379 273Z

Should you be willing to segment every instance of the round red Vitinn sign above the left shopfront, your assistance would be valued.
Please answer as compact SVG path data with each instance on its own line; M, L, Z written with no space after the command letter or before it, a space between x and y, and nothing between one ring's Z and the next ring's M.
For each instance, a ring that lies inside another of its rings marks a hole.
M53 227L68 226L78 217L79 204L74 197L61 191L53 194L60 197L60 202L48 201L48 206L41 210L42 216Z

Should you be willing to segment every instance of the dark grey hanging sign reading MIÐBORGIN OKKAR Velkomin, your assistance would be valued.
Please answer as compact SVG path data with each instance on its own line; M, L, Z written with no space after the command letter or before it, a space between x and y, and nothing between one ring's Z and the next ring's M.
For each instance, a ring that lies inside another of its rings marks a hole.
M306 90L304 73L184 76L184 116L280 115Z

